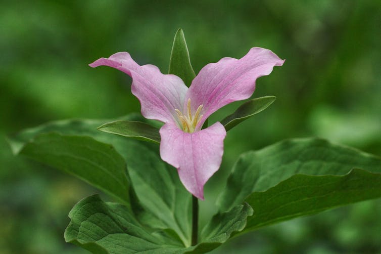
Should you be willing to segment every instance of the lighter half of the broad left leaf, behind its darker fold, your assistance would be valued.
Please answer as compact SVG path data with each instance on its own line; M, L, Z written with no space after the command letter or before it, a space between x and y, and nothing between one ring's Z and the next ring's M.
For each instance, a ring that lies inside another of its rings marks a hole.
M144 120L135 114L124 119ZM182 186L175 168L161 160L158 146L153 143L98 131L97 126L106 121L74 119L49 122L9 137L9 142L12 150L18 153L36 135L54 131L64 135L89 136L108 144L107 146L112 144L127 163L128 175L134 188L133 208L138 207L138 204L141 207L135 210L139 220L153 228L168 229L168 234L174 237L177 235L185 245L188 244L192 196Z

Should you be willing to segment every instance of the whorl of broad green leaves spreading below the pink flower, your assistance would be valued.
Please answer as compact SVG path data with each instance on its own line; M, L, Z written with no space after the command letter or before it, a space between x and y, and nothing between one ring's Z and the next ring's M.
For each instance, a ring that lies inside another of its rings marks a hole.
M200 243L190 246L192 197L175 169L156 146L94 131L100 121L50 122L10 138L14 152L127 204L91 196L72 209L65 239L96 253L204 253L236 233L381 196L378 157L320 139L279 142L240 157L218 199L221 212L203 227Z

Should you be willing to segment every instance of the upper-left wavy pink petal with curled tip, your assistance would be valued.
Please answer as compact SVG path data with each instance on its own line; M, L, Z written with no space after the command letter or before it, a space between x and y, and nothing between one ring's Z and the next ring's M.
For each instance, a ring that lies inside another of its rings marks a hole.
M131 91L139 99L141 114L162 122L176 121L174 109L182 109L187 87L175 75L162 74L154 65L138 65L127 52L100 58L91 67L106 65L132 77Z

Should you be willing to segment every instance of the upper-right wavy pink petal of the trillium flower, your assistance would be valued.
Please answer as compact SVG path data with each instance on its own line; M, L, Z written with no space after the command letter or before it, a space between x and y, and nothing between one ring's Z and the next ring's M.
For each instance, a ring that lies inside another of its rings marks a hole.
M255 80L270 74L274 66L281 66L283 62L270 50L252 48L241 59L225 57L217 63L207 64L192 81L185 97L185 103L191 99L193 111L204 105L198 129L219 108L250 98Z

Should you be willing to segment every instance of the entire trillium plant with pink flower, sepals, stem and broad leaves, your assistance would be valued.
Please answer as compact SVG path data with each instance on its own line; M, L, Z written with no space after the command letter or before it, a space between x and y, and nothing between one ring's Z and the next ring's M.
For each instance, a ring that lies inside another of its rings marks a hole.
M86 197L69 213L65 240L93 253L205 253L260 227L379 198L379 157L318 138L245 152L218 198L205 197L205 184L221 166L226 132L275 100L249 99L257 78L283 63L270 50L252 48L240 59L207 64L196 75L179 29L169 74L139 65L127 52L90 64L129 75L141 115L49 122L9 141L15 154L110 196L112 202ZM247 101L224 119L208 120L242 100ZM199 200L217 207L203 227Z

